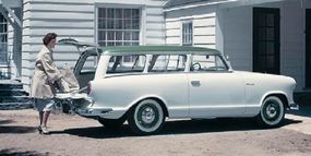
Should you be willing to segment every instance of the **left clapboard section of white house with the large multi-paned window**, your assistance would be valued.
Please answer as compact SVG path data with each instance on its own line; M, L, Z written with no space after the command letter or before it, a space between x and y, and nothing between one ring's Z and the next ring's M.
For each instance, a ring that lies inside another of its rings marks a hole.
M8 45L8 50L0 49L1 70L9 67L11 79L21 79L27 89L35 57L43 46L41 38L49 32L57 33L58 39L71 37L100 46L165 44L165 2L0 0L0 19L5 24L9 22L8 29L3 31L8 35L8 43L2 41ZM57 46L53 57L57 65L74 65L79 53L72 47Z

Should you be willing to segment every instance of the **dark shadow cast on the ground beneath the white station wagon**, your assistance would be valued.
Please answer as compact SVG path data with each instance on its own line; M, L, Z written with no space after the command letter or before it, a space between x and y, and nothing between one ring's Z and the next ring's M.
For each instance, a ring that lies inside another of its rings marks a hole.
M285 119L283 125L300 123L299 120ZM282 127L283 127L282 125ZM264 130L253 119L212 119L212 120L178 120L167 121L164 129L155 135L178 135L232 131L258 131ZM128 124L119 130L109 130L105 127L88 127L52 131L51 134L71 134L92 139L111 139L136 136Z

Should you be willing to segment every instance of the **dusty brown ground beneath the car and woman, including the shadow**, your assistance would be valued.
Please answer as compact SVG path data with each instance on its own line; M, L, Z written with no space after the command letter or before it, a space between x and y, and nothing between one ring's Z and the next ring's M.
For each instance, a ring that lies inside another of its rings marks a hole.
M311 108L286 115L282 128L263 130L253 120L178 120L158 135L135 136L79 116L51 115L50 135L39 135L37 112L0 110L0 155L310 156Z

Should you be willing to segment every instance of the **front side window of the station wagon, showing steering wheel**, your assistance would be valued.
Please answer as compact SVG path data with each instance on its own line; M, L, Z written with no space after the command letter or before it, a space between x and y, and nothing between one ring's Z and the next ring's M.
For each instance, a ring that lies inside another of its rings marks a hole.
M205 72L205 71L228 71L220 56L213 55L193 55L190 65L190 71Z

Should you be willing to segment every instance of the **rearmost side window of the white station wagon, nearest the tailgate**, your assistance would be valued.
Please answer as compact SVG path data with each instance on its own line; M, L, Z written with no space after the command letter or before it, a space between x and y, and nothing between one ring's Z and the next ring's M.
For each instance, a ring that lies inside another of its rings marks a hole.
M124 62L125 58L133 58L132 62ZM132 56L111 56L107 69L107 73L129 73L129 72L143 72L145 67L145 55Z

